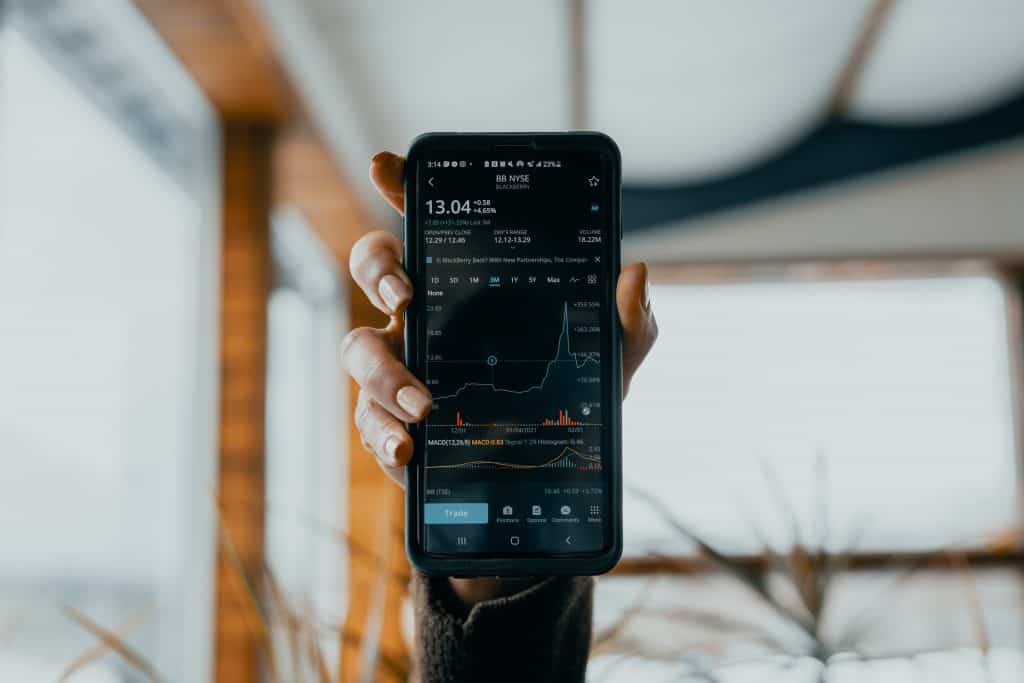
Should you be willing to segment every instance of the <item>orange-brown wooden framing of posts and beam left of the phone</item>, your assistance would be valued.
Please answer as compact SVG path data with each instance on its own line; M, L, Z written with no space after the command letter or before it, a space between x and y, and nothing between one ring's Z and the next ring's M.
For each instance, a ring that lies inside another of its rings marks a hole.
M278 58L271 32L255 0L135 2L204 90L223 125L218 496L222 522L241 568L256 581L263 562L269 211L275 204L299 209L335 255L346 282L351 246L374 225L307 125L302 102ZM350 282L348 286L351 325L380 324L382 316ZM339 376L338 381L348 380ZM348 388L350 403L356 393L354 386ZM349 554L343 680L387 680L385 673L377 673L379 657L367 656L364 644L379 644L388 661L404 666L398 616L404 587L400 579L380 581L386 567L398 575L409 570L400 541L401 496L362 452L350 404L343 405L338 419L349 427L348 442L338 445L338 457L348 464L344 499L349 537L381 559L368 561ZM258 683L265 646L231 555L222 549L218 558L216 681ZM383 605L383 610L375 611L375 604Z

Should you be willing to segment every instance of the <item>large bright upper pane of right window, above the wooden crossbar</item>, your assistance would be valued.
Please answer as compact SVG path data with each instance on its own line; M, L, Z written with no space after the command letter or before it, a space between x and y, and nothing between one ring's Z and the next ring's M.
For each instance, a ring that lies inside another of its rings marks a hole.
M976 547L1015 525L997 281L664 284L653 299L660 337L625 404L626 481L706 541L786 548L785 505L805 543L827 526L834 551ZM627 554L691 550L637 496L627 506Z

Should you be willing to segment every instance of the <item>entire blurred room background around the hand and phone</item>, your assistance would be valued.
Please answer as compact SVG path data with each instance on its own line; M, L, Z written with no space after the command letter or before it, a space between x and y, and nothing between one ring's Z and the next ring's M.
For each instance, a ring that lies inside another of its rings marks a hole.
M594 681L1024 680L1024 5L0 1L0 678L400 681L366 169L597 129L658 344Z

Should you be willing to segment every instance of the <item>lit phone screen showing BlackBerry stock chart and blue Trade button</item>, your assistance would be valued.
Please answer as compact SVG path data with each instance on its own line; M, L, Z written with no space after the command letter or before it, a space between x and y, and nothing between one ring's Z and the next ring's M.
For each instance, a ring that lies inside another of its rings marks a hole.
M597 550L613 285L603 167L431 163L418 174L426 547Z

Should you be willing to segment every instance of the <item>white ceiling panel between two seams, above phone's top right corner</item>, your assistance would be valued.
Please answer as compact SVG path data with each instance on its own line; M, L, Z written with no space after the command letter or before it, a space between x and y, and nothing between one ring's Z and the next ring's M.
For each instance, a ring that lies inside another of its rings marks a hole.
M748 166L817 123L869 4L588 5L591 122L634 181Z

